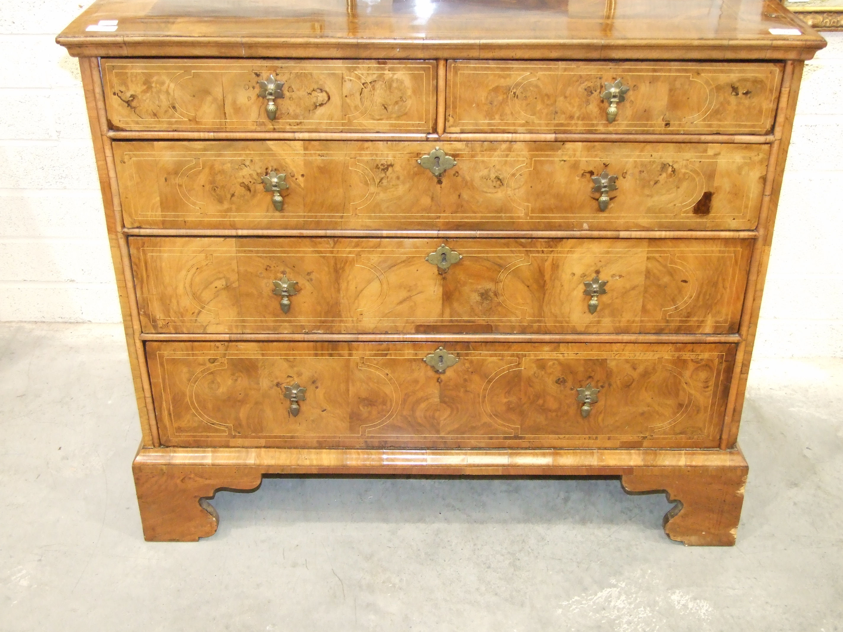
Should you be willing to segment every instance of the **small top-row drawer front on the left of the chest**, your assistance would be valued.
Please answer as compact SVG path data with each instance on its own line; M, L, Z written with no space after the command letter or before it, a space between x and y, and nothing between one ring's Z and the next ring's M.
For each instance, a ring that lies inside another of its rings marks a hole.
M428 132L436 118L436 62L104 59L101 68L116 130Z

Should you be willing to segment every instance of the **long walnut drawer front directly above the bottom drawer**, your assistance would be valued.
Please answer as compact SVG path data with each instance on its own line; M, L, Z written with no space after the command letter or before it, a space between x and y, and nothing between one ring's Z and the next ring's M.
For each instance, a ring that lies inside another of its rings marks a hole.
M733 333L752 242L451 239L442 246L130 239L142 329L221 334Z

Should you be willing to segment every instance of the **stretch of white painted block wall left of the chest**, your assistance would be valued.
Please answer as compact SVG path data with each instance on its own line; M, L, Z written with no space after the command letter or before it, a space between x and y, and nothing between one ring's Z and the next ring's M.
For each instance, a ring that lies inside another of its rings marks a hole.
M0 0L0 320L120 319L79 67L89 2Z

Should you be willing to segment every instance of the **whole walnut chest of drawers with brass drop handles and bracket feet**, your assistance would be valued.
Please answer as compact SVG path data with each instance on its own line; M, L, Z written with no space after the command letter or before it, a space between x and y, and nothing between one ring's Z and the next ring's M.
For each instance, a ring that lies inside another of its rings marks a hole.
M803 62L761 0L99 0L150 540L263 474L616 475L733 544Z

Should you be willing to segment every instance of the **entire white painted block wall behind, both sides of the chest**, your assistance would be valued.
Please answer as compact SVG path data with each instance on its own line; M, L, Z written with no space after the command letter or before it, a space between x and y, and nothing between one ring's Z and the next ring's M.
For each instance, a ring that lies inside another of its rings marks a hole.
M0 0L0 320L117 322L78 64L53 38L89 3ZM808 63L758 356L843 356L843 33Z

